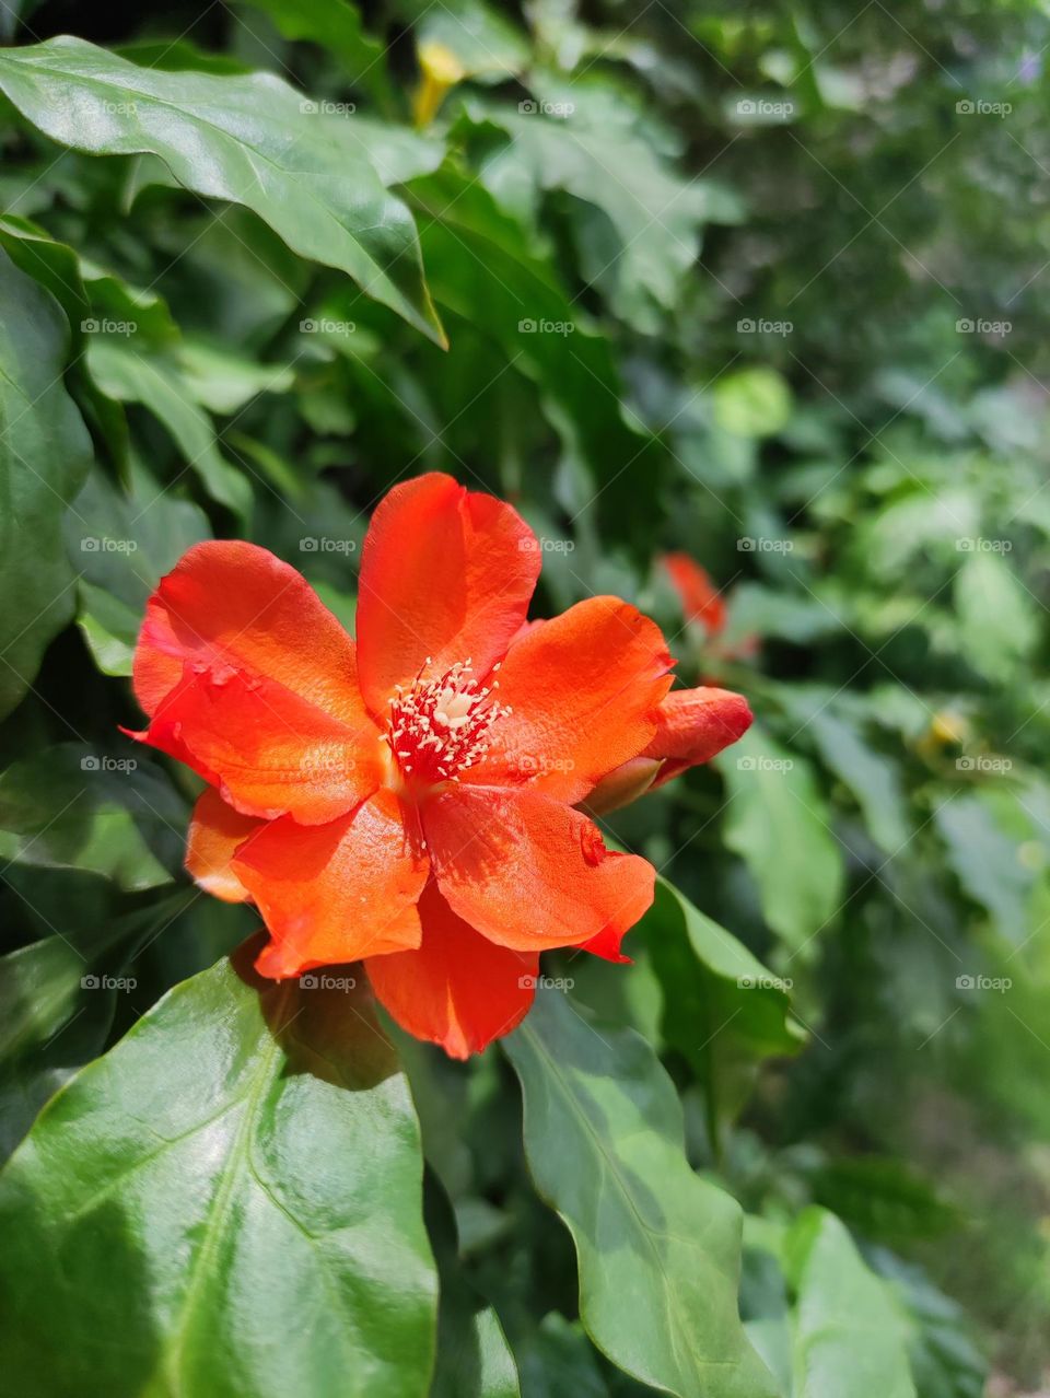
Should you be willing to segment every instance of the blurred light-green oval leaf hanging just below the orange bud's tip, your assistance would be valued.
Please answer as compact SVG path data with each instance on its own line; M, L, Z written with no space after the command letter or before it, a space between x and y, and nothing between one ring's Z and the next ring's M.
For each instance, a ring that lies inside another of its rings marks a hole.
M758 724L716 758L726 777L726 844L751 870L762 914L797 952L842 903L842 851L811 765Z

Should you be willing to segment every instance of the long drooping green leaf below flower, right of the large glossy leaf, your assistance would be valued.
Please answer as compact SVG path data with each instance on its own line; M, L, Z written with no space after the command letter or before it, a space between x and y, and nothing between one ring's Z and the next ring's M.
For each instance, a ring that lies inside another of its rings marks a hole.
M576 1244L580 1317L612 1363L678 1398L762 1398L737 1311L738 1205L691 1170L677 1093L632 1030L541 991L505 1042L538 1192Z

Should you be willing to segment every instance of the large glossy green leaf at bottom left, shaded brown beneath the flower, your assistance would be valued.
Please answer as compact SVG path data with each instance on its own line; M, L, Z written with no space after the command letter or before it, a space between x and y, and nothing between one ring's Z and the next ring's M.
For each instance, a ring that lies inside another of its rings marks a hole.
M0 1176L0 1345L24 1398L424 1398L436 1281L415 1116L357 991L171 991Z

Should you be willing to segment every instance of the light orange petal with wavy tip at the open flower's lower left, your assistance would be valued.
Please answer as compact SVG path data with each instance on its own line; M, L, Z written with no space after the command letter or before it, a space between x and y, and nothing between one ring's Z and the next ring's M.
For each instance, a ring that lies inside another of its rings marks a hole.
M415 903L426 860L390 791L329 825L264 825L238 850L233 870L273 938L256 962L263 976L281 980L419 945Z

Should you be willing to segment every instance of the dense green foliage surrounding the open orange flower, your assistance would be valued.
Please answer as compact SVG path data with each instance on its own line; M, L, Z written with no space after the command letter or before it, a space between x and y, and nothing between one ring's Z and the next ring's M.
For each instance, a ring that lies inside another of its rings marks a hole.
M1040 11L14 0L0 32L17 1391L1037 1387ZM264 544L352 628L368 514L431 468L528 519L547 612L636 601L756 714L608 822L667 881L635 965L551 956L570 993L467 1065L228 962L257 918L182 871L192 779L119 731L190 542Z

